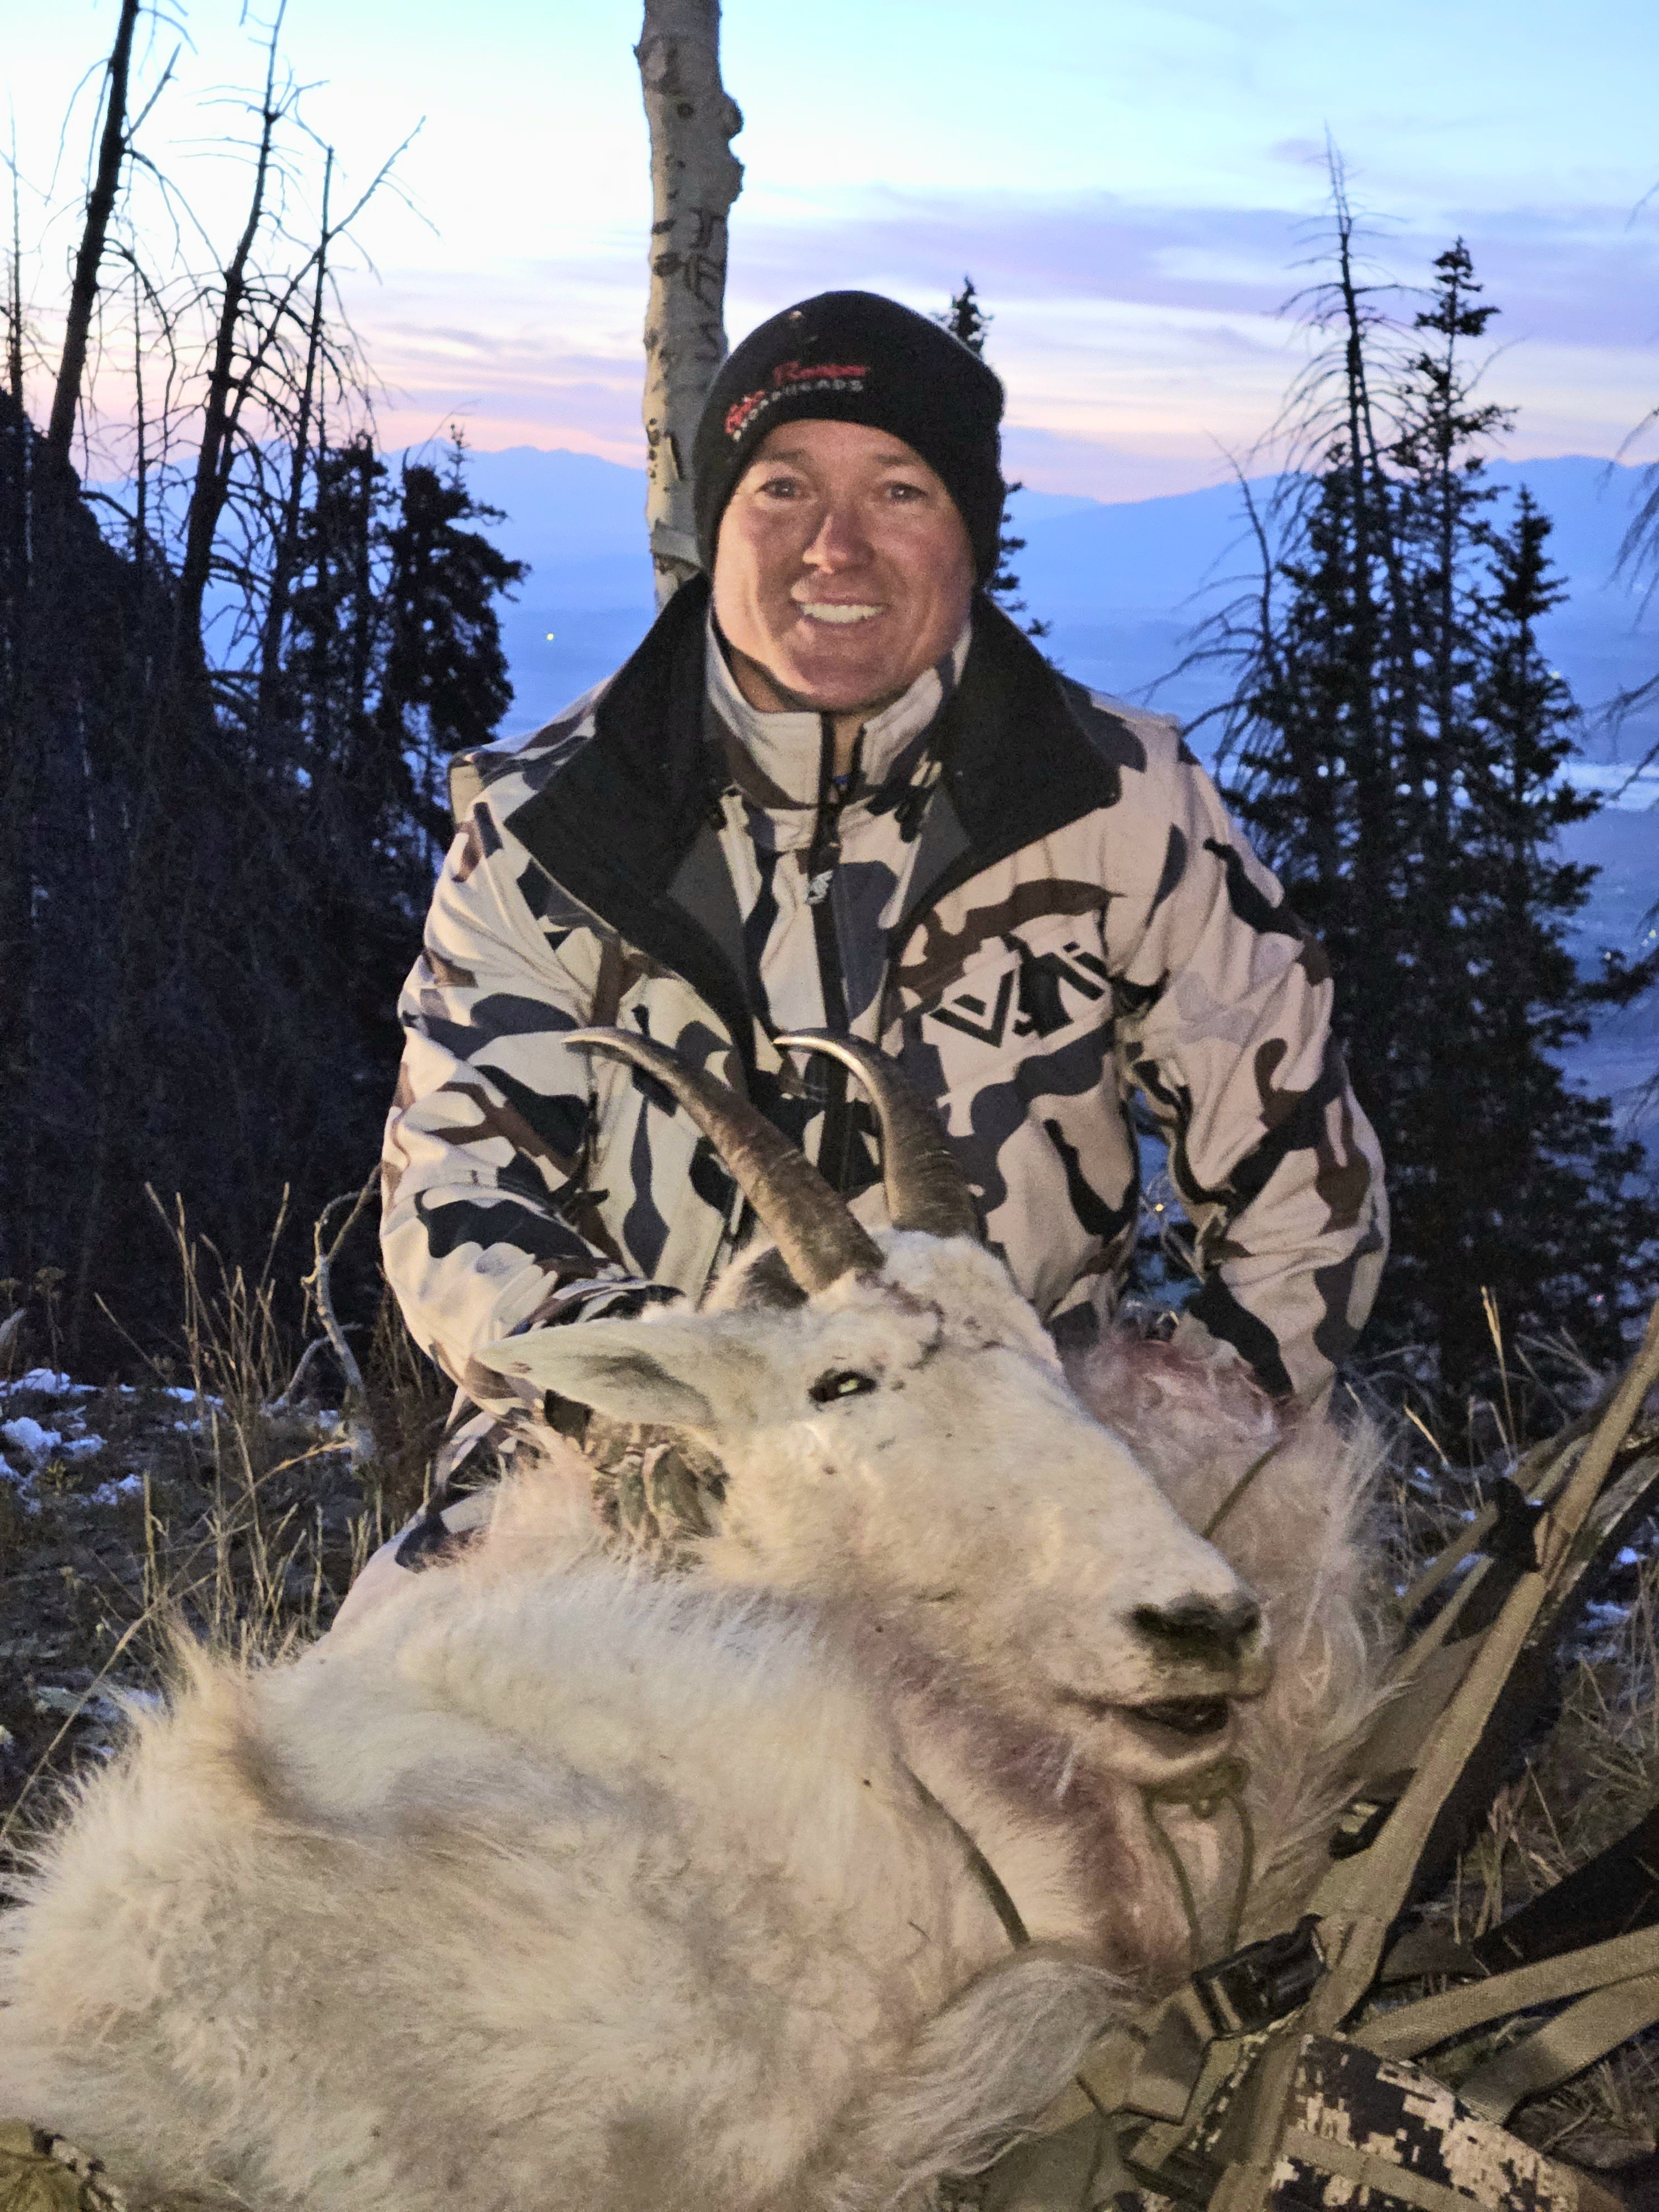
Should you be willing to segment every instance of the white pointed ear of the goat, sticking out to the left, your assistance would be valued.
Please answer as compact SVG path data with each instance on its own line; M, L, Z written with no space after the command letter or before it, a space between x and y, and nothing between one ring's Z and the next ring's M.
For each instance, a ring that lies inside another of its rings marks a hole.
M591 1405L613 1420L659 1420L677 1429L717 1425L717 1402L748 1398L754 1356L697 1316L661 1321L566 1321L526 1329L480 1352L484 1367Z

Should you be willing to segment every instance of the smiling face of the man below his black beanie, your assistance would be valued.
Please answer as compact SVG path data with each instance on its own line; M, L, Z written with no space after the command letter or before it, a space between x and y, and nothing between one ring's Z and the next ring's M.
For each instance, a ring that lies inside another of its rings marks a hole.
M878 710L967 622L973 546L929 465L863 422L781 422L714 546L714 617L752 706Z

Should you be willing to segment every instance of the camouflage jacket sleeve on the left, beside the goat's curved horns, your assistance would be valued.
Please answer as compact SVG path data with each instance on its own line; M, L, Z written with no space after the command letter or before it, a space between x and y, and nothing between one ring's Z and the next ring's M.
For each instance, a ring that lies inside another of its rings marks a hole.
M480 1407L540 1409L476 1354L646 1294L584 1201L586 1055L602 958L533 863L473 805L445 860L403 998L383 1155L385 1272L416 1343Z

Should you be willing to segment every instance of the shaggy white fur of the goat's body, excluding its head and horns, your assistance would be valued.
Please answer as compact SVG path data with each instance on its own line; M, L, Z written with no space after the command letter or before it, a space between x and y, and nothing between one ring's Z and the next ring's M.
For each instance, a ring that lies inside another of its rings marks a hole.
M1281 1655L1241 1739L1248 1920L1281 1924L1376 1699L1371 1447L1281 1438L1161 1347L1075 1380L1199 1528L1279 1444L1217 1544ZM1128 1896L1144 1942L1124 1973L1084 1944L1011 1958L869 1624L653 1573L586 1475L553 1442L471 1551L296 1663L184 1652L0 1920L0 2110L95 2148L135 2208L878 2212L984 2163L1179 1975L1137 1792L1013 1774L1073 1856L1113 1838L1079 1896Z

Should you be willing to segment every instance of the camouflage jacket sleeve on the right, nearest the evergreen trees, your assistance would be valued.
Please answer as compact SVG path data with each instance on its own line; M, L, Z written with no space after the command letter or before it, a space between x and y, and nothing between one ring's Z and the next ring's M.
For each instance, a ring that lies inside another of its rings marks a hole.
M1117 1064L1197 1232L1181 1329L1234 1345L1274 1396L1312 1396L1387 1256L1383 1157L1332 1033L1329 962L1186 745L1166 737L1126 776L1124 812L1141 807L1121 832L1144 876L1161 867L1115 916Z

